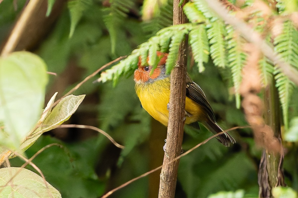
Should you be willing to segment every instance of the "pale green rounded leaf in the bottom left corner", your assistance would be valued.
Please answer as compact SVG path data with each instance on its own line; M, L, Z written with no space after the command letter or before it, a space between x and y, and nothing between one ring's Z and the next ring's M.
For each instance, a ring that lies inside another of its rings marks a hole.
M0 197L61 197L59 191L38 174L28 169L20 169L21 168L18 167L0 169ZM10 178L16 173L18 174L13 178L11 182L6 185Z

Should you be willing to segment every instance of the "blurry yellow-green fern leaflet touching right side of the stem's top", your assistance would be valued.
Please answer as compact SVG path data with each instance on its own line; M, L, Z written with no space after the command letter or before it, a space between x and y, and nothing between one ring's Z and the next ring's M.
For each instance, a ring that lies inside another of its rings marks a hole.
M183 12L192 23L201 23L207 20L203 13L195 6L194 2L185 4L183 6Z

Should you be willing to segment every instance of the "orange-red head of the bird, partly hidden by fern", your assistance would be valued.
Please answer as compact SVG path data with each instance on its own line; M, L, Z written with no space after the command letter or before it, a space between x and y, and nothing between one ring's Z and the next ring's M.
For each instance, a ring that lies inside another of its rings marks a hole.
M163 52L156 52L156 53L157 53L157 57L160 60L153 72L151 72L153 67L148 64L142 65L141 57L139 57L138 68L134 71L134 81L137 84L153 83L156 80L161 80L169 76L166 74L166 68L165 68L168 54ZM147 57L147 63L148 63L148 60L149 58Z

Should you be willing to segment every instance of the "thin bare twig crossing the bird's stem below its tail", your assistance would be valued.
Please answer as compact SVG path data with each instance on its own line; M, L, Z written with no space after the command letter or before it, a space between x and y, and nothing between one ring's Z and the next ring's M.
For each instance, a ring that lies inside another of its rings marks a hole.
M243 129L243 128L250 128L250 126L233 127L233 128L230 128L229 130L226 130L226 132L231 131L231 130L235 130L235 129ZM224 132L220 132L220 133L217 133L217 134L215 134L215 135L212 135L211 137L207 138L206 140L204 140L204 141L201 142L200 144L194 146L193 148L191 148L191 149L189 149L188 151L184 152L183 154L179 155L177 158L173 159L173 160L172 160L171 162L169 162L169 163L172 163L173 161L176 161L176 160L180 159L181 157L183 157L183 156L189 154L190 152L192 152L193 150L195 150L195 149L198 148L199 146L201 146L201 145L203 145L203 144L206 144L209 140L211 140L212 138L217 137L218 135L221 135L222 133L224 133ZM131 183L133 183L134 181L136 181L136 180L138 180L138 179L140 179L140 178L142 178L142 177L146 177L147 175L149 175L149 174L151 174L151 173L153 173L153 172L155 172L155 171L157 171L157 170L159 170L159 169L161 169L161 168L162 168L162 166L159 166L159 167L157 167L157 168L155 168L155 169L153 169L153 170L151 170L151 171L148 171L148 172L146 172L146 173L140 175L139 177L136 177L136 178L134 178L134 179L132 179L132 180L129 180L129 181L125 182L124 184L118 186L117 188L114 188L113 190L108 191L108 192L107 192L106 194L104 194L101 198L107 198L108 196L110 196L111 194L113 194L115 191L117 191L117 190L119 190L119 189L121 189L121 188L123 188L123 187L125 187L125 186L127 186L127 185L129 185L129 184L131 184Z

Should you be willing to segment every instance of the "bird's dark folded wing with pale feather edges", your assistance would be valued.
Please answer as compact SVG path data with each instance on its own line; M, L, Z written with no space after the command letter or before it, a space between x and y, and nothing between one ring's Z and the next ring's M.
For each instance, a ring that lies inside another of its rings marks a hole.
M203 90L192 80L186 83L186 96L198 103L201 107L203 107L206 110L210 119L213 119L215 121L213 110L209 102L207 101Z

